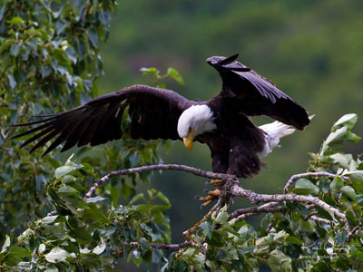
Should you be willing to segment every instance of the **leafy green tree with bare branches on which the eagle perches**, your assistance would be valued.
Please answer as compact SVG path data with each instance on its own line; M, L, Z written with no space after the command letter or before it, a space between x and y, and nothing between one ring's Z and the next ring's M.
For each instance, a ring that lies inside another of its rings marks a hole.
M363 163L340 151L345 141L360 140L352 132L356 114L333 125L320 151L310 154L308 172L291 177L280 195L243 189L233 176L160 165L163 141L124 135L104 149L74 151L64 165L59 152L40 157L9 141L9 124L25 112L59 112L97 95L98 45L114 6L104 0L0 5L0 271L111 271L121 259L162 271L361 269ZM161 84L157 69L142 71ZM166 75L182 83L175 70ZM226 180L219 201L184 232L182 244L171 244L170 201L155 189L133 187L148 182L152 170ZM231 210L233 198L264 204ZM266 216L259 229L245 221L260 214Z

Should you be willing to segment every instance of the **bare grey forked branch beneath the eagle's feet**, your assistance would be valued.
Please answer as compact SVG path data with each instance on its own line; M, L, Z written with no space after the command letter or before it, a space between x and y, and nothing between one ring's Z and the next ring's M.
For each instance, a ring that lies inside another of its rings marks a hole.
M229 203L230 199L232 198L246 198L249 199L251 203L257 204L260 202L264 202L265 204L262 204L258 207L250 207L250 208L243 208L243 209L237 209L233 211L230 216L229 220L236 220L240 221L243 219L248 219L252 216L260 215L261 213L269 213L269 212L287 212L288 209L285 206L285 202L299 202L306 204L306 208L309 210L315 209L316 207L319 207L320 209L324 209L329 211L330 214L334 214L335 219L330 221L328 219L321 219L316 216L316 212L311 212L308 217L305 219L311 219L319 224L328 224L328 225L336 225L338 224L338 221L344 222L345 228L347 233L349 234L349 238L356 234L357 227L350 230L348 219L346 218L343 211L340 209L336 209L329 205L328 203L324 202L323 200L312 197L312 196L305 196L305 195L298 195L298 194L291 194L287 193L289 191L289 187L293 185L293 183L296 180L299 180L301 178L307 178L307 177L328 177L328 178L335 178L338 177L337 175L326 173L326 172L310 172L310 173L303 173L299 175L292 176L289 181L287 182L286 186L284 187L284 194L275 194L275 195L269 195L269 194L258 194L252 190L249 189L243 189L240 187L240 182L236 176L228 175L228 174L222 174L222 173L213 173L211 171L205 171L200 170L196 168L192 168L185 165L178 165L178 164L159 164L159 165L150 165L150 166L142 166L138 168L132 168L132 169L126 169L126 170L115 170L107 175L105 175L102 179L98 180L96 183L93 184L92 188L89 189L87 194L85 195L85 199L91 198L93 196L94 191L103 185L103 183L107 180L110 180L113 177L117 176L124 176L124 175L130 175L133 173L140 173L145 171L153 171L153 170L180 170L189 172L193 175L212 179L212 180L223 180L225 181L225 184L223 188L221 189L221 197L218 200L217 204L204 216L201 221L197 222L193 227L189 228L183 233L184 238L186 238L186 241L182 244L178 245L166 245L166 244L152 244L152 248L161 248L161 249L172 249L172 250L178 250L185 247L200 247L200 245L197 245L195 241L191 239L191 234L199 228L201 223L205 221L208 217L211 216L213 212L218 212L219 209L221 209L222 205L225 203ZM340 177L340 176L339 176ZM345 177L340 177L344 178ZM138 247L138 244L136 242L132 242L127 245L128 247ZM200 248L201 251L203 251Z

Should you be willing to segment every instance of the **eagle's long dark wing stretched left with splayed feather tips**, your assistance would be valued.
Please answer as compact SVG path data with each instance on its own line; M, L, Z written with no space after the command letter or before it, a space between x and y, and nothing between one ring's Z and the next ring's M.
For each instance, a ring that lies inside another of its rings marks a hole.
M67 112L39 116L42 118L39 121L15 124L36 127L15 135L13 139L36 132L21 146L38 140L32 152L56 137L44 155L64 141L62 151L74 145L98 145L117 140L123 136L123 112L129 106L132 139L177 140L179 116L190 104L189 100L176 92L134 85L100 96Z

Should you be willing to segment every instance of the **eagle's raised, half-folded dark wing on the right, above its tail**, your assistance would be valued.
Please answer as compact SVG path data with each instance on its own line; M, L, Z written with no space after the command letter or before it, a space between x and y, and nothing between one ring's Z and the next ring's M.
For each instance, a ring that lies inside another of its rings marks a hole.
M249 116L267 115L299 130L309 125L308 113L302 106L268 79L234 61L237 57L211 57L207 60L220 73L221 96L232 101L234 111Z

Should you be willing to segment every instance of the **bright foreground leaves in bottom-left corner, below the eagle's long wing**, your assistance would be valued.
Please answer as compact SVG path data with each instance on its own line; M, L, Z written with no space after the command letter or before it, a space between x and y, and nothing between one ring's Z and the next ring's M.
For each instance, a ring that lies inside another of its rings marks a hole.
M170 243L169 200L153 189L146 196L136 195L126 206L103 197L83 199L78 192L85 190L85 180L93 174L91 165L71 160L55 170L46 187L58 214L32 220L16 238L19 247L10 247L14 236L7 235L0 267L113 271L115 259L122 256L137 266L142 261L159 262L162 252L151 248L150 242ZM140 246L128 246L131 242Z

